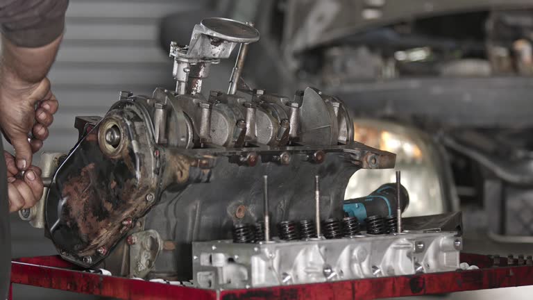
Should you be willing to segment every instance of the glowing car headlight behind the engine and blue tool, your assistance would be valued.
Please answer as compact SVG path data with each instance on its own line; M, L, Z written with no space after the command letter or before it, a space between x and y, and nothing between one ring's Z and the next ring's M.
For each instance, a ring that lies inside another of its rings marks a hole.
M409 192L403 216L435 215L455 208L446 153L430 136L394 122L354 119L354 140L396 153L396 169L402 171L402 184ZM394 169L360 169L350 178L344 199L364 197L382 183L394 181Z

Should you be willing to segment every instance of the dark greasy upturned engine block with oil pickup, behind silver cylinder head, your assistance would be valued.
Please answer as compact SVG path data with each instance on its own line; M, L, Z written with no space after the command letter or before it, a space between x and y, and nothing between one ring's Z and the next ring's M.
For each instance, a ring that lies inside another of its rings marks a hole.
M343 216L357 169L394 167L393 153L353 141L340 99L316 88L290 98L248 88L242 67L258 39L249 24L204 19L188 46L171 44L175 91L121 92L103 118L76 118L79 140L44 204L62 258L121 276L187 280L192 242L223 240L234 224L262 219L262 176L271 182L272 222L314 217L314 176L327 219ZM211 65L237 44L228 92L205 97Z

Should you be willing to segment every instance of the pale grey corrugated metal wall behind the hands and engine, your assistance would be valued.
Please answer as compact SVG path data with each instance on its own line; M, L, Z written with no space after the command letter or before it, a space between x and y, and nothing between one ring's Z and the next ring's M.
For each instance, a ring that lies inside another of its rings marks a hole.
M151 94L157 86L172 86L171 60L158 44L160 18L204 2L71 0L65 40L49 74L60 108L44 150L68 151L77 138L74 117L104 115L120 90ZM11 219L14 257L56 254L42 230L17 214ZM15 286L14 292L16 299L85 299L23 286Z

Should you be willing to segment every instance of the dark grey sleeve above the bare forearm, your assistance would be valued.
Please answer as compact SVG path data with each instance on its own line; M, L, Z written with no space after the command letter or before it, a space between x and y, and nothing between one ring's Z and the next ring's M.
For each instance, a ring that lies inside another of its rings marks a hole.
M65 28L69 0L0 0L0 30L20 47L42 47Z

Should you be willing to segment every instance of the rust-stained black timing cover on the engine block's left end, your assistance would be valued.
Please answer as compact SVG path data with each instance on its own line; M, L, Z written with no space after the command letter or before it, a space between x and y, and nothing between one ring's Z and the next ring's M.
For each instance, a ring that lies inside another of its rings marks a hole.
M46 198L51 239L65 258L84 267L98 263L115 247L130 229L122 222L146 213L153 205L149 194L154 199L158 192L153 138L139 117L142 111L130 103L117 106L130 109L111 110L78 142ZM121 128L121 143L114 151L102 149L99 139L100 126L110 120Z

